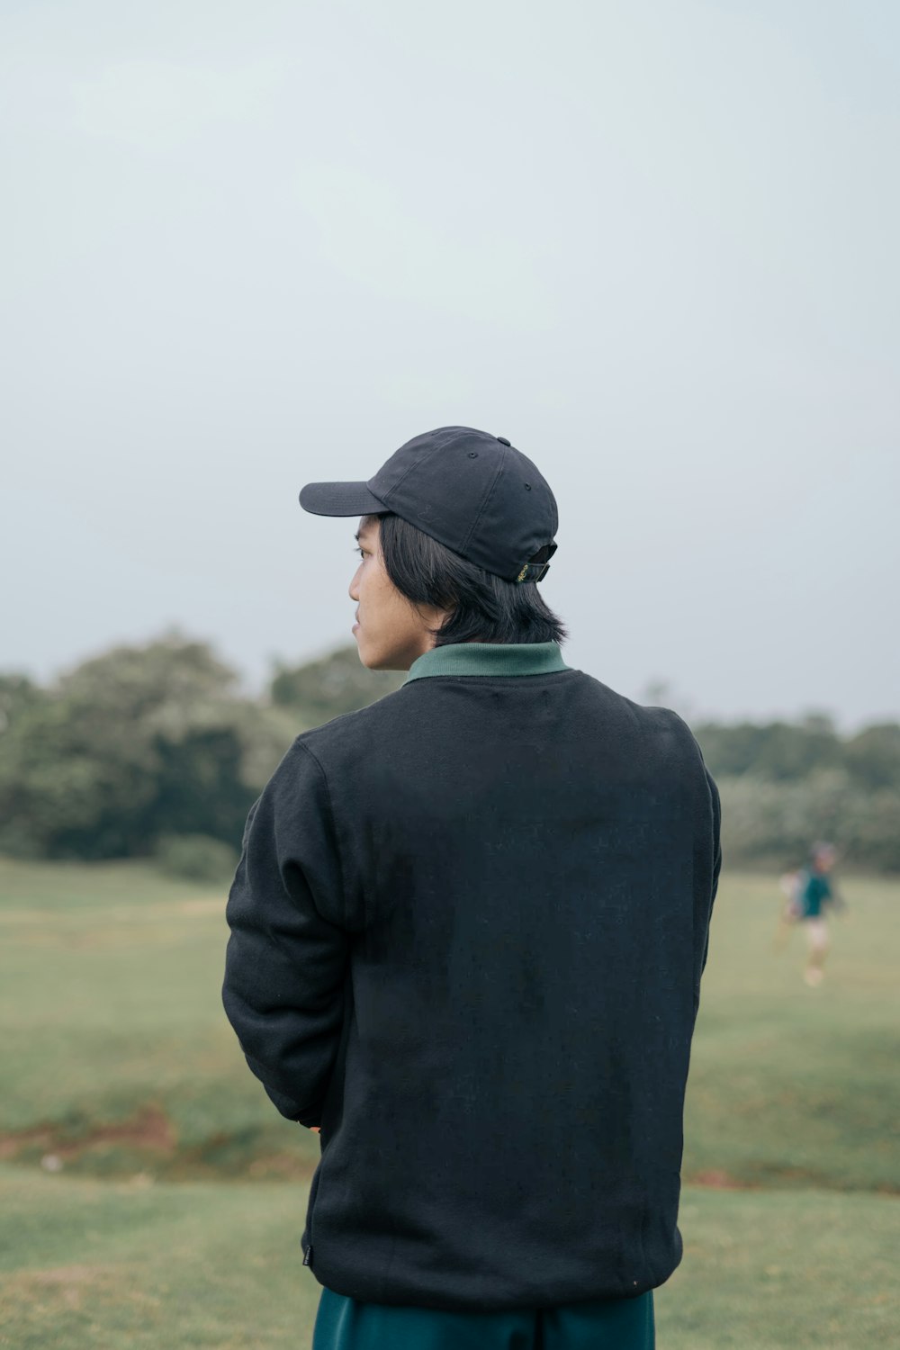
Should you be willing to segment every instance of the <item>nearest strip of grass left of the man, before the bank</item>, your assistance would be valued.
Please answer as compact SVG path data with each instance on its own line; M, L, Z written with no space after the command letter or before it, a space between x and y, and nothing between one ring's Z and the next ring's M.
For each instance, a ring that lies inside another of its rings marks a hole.
M305 1188L0 1172L0 1346L309 1346Z

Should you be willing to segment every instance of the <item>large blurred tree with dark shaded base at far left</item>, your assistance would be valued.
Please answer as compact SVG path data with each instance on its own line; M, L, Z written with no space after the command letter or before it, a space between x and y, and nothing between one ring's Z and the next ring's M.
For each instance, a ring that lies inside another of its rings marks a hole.
M0 741L0 848L119 857L173 829L240 840L290 734L236 684L205 643L169 633L19 698Z

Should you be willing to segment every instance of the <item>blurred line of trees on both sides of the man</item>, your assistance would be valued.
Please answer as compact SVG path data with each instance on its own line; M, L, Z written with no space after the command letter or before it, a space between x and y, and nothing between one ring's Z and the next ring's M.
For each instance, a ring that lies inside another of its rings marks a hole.
M294 736L398 688L355 647L279 664L259 697L213 648L171 632L39 684L0 675L0 852L233 864L251 803ZM797 722L698 722L723 802L726 863L787 868L833 840L849 864L900 872L900 725L842 736Z

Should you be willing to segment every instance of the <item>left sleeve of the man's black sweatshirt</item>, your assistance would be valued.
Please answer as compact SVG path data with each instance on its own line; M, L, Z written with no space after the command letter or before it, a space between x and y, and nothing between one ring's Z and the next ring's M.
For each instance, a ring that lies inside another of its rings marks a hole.
M344 1013L348 934L328 784L302 741L251 807L225 917L223 1003L282 1115L321 1123Z

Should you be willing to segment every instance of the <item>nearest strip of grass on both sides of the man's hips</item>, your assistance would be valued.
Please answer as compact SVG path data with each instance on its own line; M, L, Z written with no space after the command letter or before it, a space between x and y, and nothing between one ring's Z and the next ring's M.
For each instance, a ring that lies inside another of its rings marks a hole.
M304 1350L305 1187L0 1170L0 1346ZM900 1318L897 1202L688 1188L660 1350L869 1350ZM464 1350L464 1347L460 1347Z

